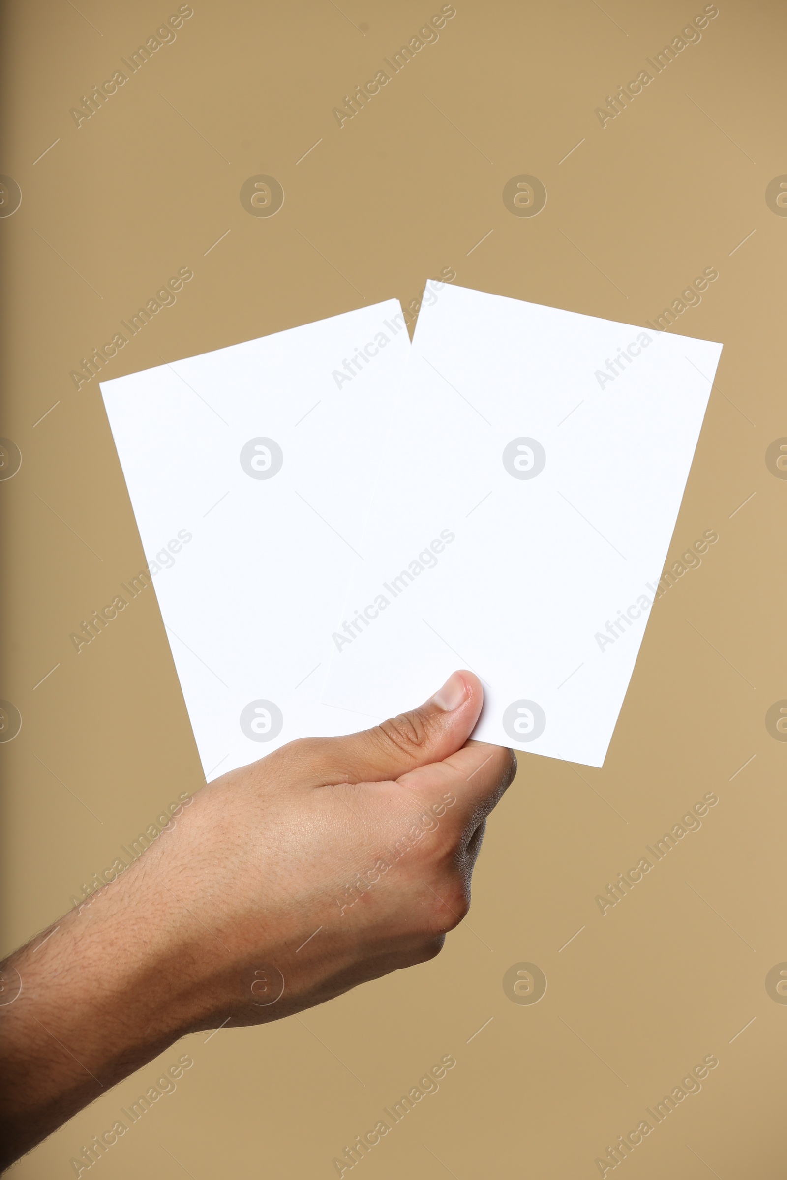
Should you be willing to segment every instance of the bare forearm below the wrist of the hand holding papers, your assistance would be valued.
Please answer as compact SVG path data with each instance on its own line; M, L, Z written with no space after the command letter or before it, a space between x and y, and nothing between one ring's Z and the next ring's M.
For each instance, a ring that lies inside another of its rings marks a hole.
M182 959L185 983L183 956L190 956L184 939L172 940L166 897L151 904L156 866L145 859L2 966L2 1167L196 1018L185 989L178 996L173 988L173 958Z

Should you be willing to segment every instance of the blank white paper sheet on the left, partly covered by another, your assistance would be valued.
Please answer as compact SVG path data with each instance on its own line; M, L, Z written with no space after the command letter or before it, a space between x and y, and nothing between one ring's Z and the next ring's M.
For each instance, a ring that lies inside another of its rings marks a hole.
M389 300L101 384L209 779L359 728L320 690L408 352Z

